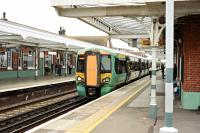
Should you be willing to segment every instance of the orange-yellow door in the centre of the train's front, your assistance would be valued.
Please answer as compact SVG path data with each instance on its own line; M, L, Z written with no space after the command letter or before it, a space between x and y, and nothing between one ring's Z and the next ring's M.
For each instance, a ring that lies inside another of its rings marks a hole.
M99 86L99 53L86 53L86 85Z

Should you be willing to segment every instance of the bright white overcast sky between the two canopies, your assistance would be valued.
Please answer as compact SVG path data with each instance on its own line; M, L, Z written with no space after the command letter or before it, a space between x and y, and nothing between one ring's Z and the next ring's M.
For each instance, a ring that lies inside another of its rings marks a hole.
M60 26L69 36L107 36L78 19L58 16L51 7L51 0L0 0L0 18L6 12L9 21L28 25L38 29L58 33ZM112 39L114 47L128 47L125 42Z

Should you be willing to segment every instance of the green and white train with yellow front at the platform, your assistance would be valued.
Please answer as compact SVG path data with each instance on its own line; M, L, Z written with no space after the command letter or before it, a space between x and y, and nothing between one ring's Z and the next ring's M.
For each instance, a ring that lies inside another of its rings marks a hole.
M109 48L78 52L76 89L82 97L100 97L121 84L149 74L151 61Z

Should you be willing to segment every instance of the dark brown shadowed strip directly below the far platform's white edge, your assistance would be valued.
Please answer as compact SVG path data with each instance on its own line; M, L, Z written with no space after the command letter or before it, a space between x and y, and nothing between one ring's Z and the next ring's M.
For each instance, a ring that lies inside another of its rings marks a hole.
M75 88L75 81L62 82L58 84L49 84L45 86L30 87L14 91L0 93L0 111L6 108L19 106L20 104L31 103L42 98L53 97L58 94Z

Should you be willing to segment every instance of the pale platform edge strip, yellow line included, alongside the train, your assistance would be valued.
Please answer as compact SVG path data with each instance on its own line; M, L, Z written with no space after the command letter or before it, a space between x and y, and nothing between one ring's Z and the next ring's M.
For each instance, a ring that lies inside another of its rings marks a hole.
M28 132L91 132L98 124L103 122L128 100L141 93L149 84L149 77L145 77Z

